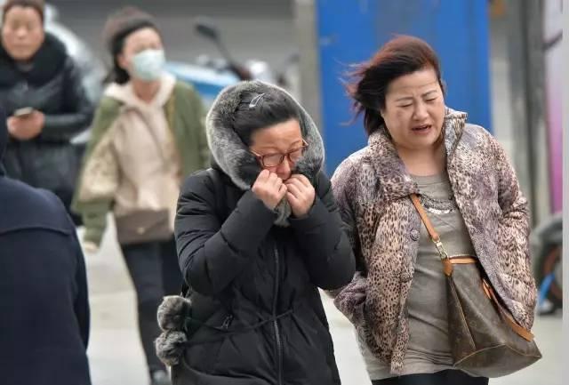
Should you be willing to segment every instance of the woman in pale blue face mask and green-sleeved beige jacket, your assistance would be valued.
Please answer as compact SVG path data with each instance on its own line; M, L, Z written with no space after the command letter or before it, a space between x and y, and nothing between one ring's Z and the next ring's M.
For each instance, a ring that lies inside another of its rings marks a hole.
M83 215L87 251L98 249L107 213L114 214L152 383L165 384L153 347L156 309L164 294L180 290L173 221L181 180L209 160L204 114L194 89L164 73L162 39L148 14L116 12L105 36L114 83L95 115L74 209Z

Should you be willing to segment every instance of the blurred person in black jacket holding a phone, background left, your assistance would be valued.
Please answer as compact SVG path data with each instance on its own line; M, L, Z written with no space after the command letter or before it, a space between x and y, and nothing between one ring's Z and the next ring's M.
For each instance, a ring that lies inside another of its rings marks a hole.
M80 162L70 140L88 128L93 112L80 70L60 40L44 31L43 0L7 0L1 32L0 106L10 132L6 172L49 189L69 208Z

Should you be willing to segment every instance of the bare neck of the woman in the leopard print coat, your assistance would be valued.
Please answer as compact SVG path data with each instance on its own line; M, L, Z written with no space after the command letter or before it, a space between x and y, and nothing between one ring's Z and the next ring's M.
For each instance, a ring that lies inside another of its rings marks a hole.
M442 140L430 148L409 149L397 146L396 148L407 172L412 175L429 176L445 171L446 153Z

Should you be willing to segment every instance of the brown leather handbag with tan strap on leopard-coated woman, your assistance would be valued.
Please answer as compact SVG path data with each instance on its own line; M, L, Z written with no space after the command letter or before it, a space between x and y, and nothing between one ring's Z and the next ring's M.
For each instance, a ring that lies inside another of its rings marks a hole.
M501 304L477 258L449 257L419 197L411 199L443 262L454 366L476 376L501 377L539 360L533 334Z

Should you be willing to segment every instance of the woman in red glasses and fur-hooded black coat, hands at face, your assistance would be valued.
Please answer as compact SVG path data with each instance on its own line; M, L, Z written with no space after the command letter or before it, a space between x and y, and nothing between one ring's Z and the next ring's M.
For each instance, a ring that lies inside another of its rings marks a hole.
M206 131L214 165L186 180L175 226L191 314L172 383L340 384L318 287L346 285L355 261L316 124L253 81L220 93Z

